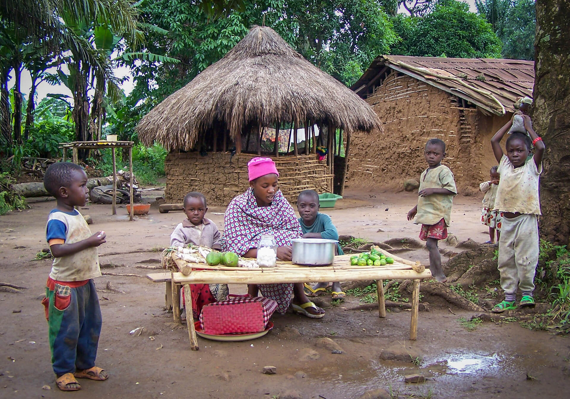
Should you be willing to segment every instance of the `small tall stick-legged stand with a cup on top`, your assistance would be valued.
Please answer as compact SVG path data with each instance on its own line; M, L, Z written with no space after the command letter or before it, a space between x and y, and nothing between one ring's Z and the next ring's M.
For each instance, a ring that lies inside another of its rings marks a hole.
M71 148L73 163L78 163L78 150L79 149L98 149L98 148L111 148L113 157L113 202L111 206L111 214L117 213L117 162L115 160L115 148L127 148L129 150L129 174L131 176L131 183L129 184L129 197L131 198L131 212L129 213L129 220L133 220L133 146L134 141L72 141L71 143L59 143L59 148L63 150L63 162L67 161L67 149Z

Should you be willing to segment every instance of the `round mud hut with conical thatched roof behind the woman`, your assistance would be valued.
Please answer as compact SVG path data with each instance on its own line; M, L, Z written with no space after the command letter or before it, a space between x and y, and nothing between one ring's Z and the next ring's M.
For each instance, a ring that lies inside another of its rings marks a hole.
M302 148L300 127L312 133ZM269 128L277 137L262 140ZM274 159L290 201L304 189L341 193L351 134L373 130L382 125L365 101L259 26L137 126L144 144L157 141L169 152L166 201L182 202L198 190L212 205L227 205L249 186L247 162L259 155ZM284 134L292 145L281 152ZM318 146L335 156L320 161Z

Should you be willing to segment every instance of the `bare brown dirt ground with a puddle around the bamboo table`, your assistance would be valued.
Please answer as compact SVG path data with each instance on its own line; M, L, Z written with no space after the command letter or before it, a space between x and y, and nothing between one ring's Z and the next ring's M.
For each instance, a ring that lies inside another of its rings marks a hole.
M160 194L146 196L153 199ZM416 200L413 193L353 191L334 209L323 211L331 215L340 234L372 241L416 238L418 226L406 221ZM21 294L0 292L2 398L352 399L377 388L388 390L393 398L568 397L568 338L531 331L516 321L482 323L470 332L458 321L469 319L469 312L431 307L420 312L417 341L409 341L408 311L390 311L380 319L376 311L349 310L359 302L351 296L345 304L327 308L323 319L274 315L275 328L260 339L222 343L198 338L200 351L193 352L186 328L172 324L172 314L163 309L164 284L112 275L96 279L103 312L97 364L110 377L104 382L82 380L79 392L59 392L40 304L51 260L32 261L46 247L45 221L54 205L31 201L31 209L0 217L0 282L27 288ZM459 241L488 239L479 222L480 206L481 198L454 200L450 232ZM134 222L128 221L124 206L117 215L105 205L88 205L81 211L92 216L92 231L107 232L108 242L100 247L100 261L106 266L102 271L141 276L153 270L137 266L160 264L160 252L142 250L168 245L170 233L183 217L180 212L160 214L154 207ZM220 229L223 211L209 209ZM427 263L424 249L401 256ZM230 287L235 293L245 289ZM144 327L143 332L130 335L137 327ZM343 353L317 347L320 337L334 340ZM381 353L382 357L400 354L402 360L381 360ZM266 365L275 366L277 373L262 374ZM404 375L413 373L429 380L405 384ZM42 389L44 385L51 389Z

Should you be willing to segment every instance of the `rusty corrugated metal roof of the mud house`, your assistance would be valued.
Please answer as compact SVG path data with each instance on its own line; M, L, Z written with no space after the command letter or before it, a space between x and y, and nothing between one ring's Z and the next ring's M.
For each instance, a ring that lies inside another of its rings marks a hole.
M535 78L534 61L381 55L351 89L365 97L367 86L385 67L453 93L495 115L514 112L518 97L532 97Z

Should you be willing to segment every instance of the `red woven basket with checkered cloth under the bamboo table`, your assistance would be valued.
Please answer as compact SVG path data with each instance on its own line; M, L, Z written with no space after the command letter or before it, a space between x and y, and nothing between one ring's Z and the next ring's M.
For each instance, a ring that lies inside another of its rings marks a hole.
M245 334L263 331L277 302L250 295L229 295L202 308L200 323L206 334Z

